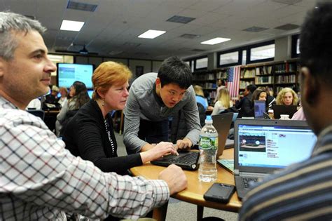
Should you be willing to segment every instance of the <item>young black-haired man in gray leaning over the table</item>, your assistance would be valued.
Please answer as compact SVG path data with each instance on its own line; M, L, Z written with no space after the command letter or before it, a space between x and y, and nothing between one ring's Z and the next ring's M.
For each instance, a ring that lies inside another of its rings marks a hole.
M177 57L162 62L157 73L137 78L130 87L125 108L123 142L128 154L144 152L153 144L168 140L168 118L184 110L188 134L177 140L176 149L198 142L200 119L191 86L191 69Z

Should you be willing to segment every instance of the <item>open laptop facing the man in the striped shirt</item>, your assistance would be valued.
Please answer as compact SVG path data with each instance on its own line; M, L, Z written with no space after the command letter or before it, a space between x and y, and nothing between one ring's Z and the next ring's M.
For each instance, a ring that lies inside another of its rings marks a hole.
M234 133L234 177L240 199L251 182L308 159L317 140L306 121L238 119Z

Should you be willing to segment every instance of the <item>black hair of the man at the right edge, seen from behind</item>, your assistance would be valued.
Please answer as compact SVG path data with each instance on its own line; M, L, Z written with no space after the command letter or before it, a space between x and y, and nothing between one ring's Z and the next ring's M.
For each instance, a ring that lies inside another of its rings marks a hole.
M300 65L314 77L332 83L332 2L317 4L305 18L300 33Z

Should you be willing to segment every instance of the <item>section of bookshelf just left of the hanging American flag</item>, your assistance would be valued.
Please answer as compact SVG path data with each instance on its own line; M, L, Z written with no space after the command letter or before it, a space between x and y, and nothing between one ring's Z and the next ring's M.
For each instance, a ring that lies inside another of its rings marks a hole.
M209 95L210 100L216 97L218 79L227 79L227 69L212 69L193 72L193 85L202 86L204 92ZM211 105L211 103L209 104Z

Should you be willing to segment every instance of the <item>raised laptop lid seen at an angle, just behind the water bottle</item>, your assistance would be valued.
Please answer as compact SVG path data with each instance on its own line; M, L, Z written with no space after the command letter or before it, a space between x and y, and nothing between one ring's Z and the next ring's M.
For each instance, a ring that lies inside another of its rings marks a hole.
M233 113L212 115L212 120L214 128L218 131L218 152L216 153L218 159L223 154L223 149L234 147L234 140L227 139L230 124L233 120Z

